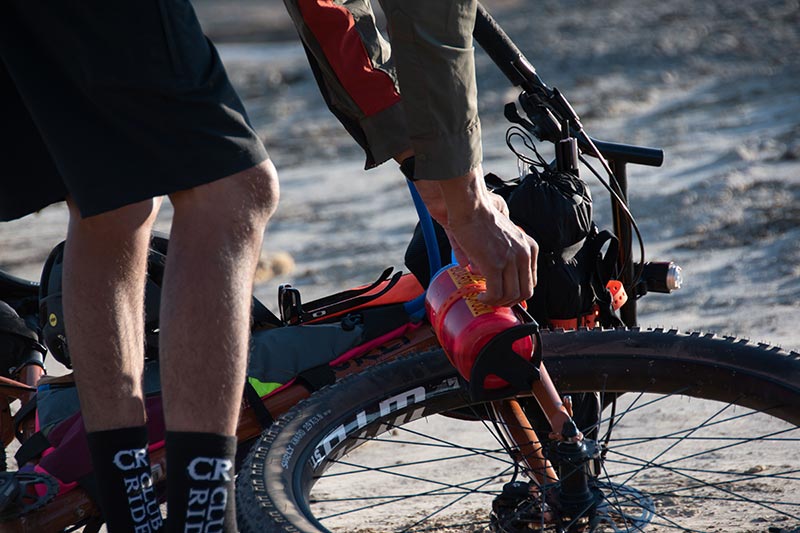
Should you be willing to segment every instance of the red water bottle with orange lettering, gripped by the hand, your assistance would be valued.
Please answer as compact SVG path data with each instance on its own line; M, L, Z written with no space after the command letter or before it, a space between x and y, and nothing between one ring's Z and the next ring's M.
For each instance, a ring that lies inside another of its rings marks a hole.
M475 360L496 335L522 321L509 307L493 307L478 301L486 292L486 279L476 276L467 267L453 266L440 271L431 280L425 296L428 319L450 362L469 381ZM530 361L533 339L522 337L511 345L520 357ZM490 374L484 389L499 389L508 383Z

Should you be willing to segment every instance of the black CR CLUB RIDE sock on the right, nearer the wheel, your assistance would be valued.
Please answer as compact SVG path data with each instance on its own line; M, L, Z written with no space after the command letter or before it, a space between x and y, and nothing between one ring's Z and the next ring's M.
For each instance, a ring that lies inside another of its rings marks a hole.
M167 431L167 530L236 531L236 437Z

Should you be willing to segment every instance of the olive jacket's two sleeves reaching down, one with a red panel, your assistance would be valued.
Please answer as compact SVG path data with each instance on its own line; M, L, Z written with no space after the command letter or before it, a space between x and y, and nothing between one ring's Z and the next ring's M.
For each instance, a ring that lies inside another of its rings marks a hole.
M383 0L391 48L368 0L284 1L323 97L364 148L367 168L409 147L420 179L461 176L480 163L476 0Z

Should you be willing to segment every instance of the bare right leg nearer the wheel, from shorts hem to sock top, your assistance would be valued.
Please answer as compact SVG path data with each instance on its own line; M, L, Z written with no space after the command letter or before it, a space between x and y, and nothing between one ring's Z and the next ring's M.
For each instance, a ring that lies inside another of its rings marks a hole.
M170 196L160 361L169 431L235 435L253 275L278 201L272 162Z

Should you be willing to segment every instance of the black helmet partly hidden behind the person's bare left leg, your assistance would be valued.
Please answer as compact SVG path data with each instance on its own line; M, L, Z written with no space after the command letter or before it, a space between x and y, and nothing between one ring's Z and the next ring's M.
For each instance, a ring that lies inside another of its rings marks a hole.
M147 257L147 284L145 286L145 358L158 356L158 316L161 299L161 283L166 264L167 238L154 234L150 240ZM64 262L64 242L58 244L45 261L39 282L39 327L42 340L53 357L72 368L64 328L64 307L61 301L61 276Z

